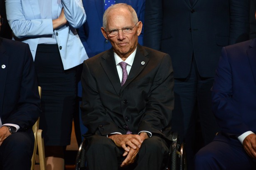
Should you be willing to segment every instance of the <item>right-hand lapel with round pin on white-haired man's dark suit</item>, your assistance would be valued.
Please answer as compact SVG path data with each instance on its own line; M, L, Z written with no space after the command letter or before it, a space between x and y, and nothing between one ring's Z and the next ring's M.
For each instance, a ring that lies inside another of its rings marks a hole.
M132 68L129 72L127 80L125 81L124 85L121 88L121 91L123 91L123 89L128 84L130 84L147 65L147 63L149 62L149 59L146 57L147 55L148 55L147 51L138 44L134 61L132 63Z

